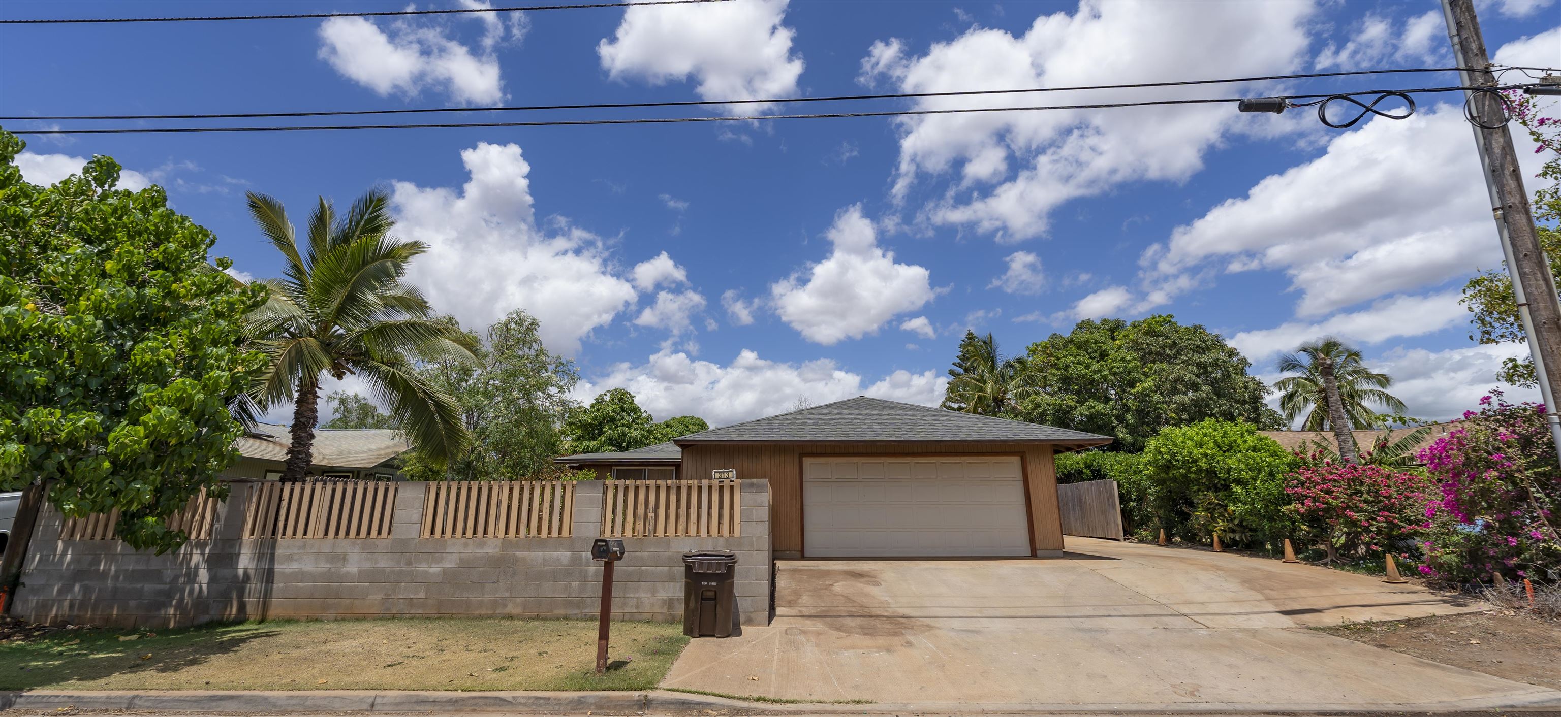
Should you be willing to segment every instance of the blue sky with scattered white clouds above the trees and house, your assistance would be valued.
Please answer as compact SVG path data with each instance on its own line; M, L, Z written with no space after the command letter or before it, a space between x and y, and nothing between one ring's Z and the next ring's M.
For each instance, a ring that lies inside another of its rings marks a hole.
M12 0L3 16L403 6ZM1480 11L1499 62L1561 65L1561 5L1486 2ZM1444 67L1445 44L1433 2L737 0L400 20L6 26L0 114L1055 87ZM1456 79L1400 75L916 106L1438 84ZM1500 257L1456 103L1453 95L1424 98L1410 120L1344 132L1307 111L1275 117L1194 106L904 122L27 136L22 167L47 182L78 168L80 157L109 154L130 170L126 184L167 187L181 212L220 237L214 254L256 277L275 276L279 262L247 217L245 190L276 195L301 223L315 196L345 206L386 187L398 232L432 246L412 279L440 310L482 327L528 309L548 344L579 363L582 397L628 387L657 418L696 413L724 424L799 397L860 393L930 404L966 327L1022 351L1080 318L1160 312L1225 335L1266 379L1277 352L1341 335L1399 377L1411 415L1447 418L1495 385L1500 360L1522 351L1474 346L1456 304L1458 287L1477 268L1499 268ZM1519 145L1531 147L1524 137Z

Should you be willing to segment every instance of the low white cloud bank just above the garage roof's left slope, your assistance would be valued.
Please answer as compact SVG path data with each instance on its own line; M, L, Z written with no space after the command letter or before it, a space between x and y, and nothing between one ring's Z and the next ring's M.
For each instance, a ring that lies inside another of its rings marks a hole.
M727 426L782 413L798 399L816 405L865 394L937 405L946 387L948 377L930 369L894 371L868 383L829 358L782 363L743 349L731 363L720 365L662 351L642 365L618 363L604 376L581 382L574 396L590 401L609 388L628 388L657 419L695 415L710 426Z

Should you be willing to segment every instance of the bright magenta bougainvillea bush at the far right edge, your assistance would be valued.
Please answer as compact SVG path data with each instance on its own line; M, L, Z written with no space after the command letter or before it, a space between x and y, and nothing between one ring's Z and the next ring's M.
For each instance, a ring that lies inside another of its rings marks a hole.
M1508 404L1500 391L1480 411L1421 450L1439 485L1425 508L1421 572L1467 583L1494 574L1509 578L1561 577L1561 466L1544 407Z

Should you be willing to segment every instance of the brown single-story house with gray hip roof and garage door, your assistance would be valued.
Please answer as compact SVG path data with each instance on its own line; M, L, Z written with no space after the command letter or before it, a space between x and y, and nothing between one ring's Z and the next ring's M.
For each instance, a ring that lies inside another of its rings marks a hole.
M777 558L1055 556L1052 455L1111 443L1051 426L859 396L620 454L556 458L618 479L770 482Z

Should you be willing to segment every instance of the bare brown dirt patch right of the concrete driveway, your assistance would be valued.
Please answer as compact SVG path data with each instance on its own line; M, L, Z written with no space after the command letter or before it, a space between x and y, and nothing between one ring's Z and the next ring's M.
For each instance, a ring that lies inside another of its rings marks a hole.
M1561 689L1561 622L1511 611L1314 628L1433 662Z

